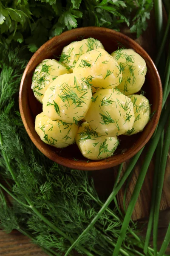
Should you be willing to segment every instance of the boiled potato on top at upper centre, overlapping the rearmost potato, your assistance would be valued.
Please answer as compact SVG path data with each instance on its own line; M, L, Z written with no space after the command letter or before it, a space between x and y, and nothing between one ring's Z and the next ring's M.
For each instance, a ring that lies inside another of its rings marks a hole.
M122 78L118 63L104 49L83 54L78 59L73 73L80 74L82 79L88 80L93 93L98 89L115 88Z

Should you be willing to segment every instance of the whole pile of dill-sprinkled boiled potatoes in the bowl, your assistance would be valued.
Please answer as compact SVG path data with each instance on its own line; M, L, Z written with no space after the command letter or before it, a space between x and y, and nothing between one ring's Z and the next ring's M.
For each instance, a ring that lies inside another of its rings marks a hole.
M144 84L147 67L132 49L111 55L94 38L64 47L60 60L43 60L31 88L42 102L35 130L44 143L65 148L76 142L82 155L100 160L113 155L118 136L143 130L150 104L134 94Z

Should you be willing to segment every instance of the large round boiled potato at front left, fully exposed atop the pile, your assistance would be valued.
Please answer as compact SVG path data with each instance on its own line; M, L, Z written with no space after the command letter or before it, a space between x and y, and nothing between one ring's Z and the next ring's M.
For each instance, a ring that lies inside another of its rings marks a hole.
M58 76L46 90L42 109L52 120L77 123L85 117L91 96L91 88L79 76L65 74Z

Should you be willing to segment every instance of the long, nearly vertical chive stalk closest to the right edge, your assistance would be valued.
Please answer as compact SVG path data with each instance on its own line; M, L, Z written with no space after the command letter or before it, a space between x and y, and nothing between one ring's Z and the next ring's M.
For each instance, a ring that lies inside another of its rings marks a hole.
M154 221L153 221L153 245L156 246L156 248L154 248L154 255L157 255L159 207L161 203L161 195L162 195L162 189L164 184L164 174L166 169L169 147L170 147L170 117L168 120L167 132L165 134L164 147L162 149L161 164L159 169L161 171L161 175L158 176L157 188L156 188L156 202L155 202Z

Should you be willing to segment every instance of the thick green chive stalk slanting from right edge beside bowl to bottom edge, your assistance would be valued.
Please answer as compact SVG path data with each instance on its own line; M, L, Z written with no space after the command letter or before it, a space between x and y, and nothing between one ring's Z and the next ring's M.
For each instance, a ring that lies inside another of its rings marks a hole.
M125 218L124 218L124 221L123 221L123 224L122 224L122 228L121 228L121 231L120 231L120 237L117 240L116 248L113 252L113 256L119 255L119 249L122 245L123 239L125 239L126 230L127 230L128 225L129 225L130 218L131 218L131 215L133 213L133 209L135 207L137 198L138 198L140 190L142 188L142 184L144 182L144 178L145 178L145 175L147 173L147 169L150 165L150 161L153 157L154 151L155 151L156 146L158 145L158 142L159 142L159 138L160 138L161 133L164 129L164 125L165 125L165 123L167 121L167 118L169 116L169 112L170 112L170 104L168 105L167 110L164 111L164 113L161 114L161 119L160 119L160 122L159 122L159 125L158 125L156 136L150 142L150 146L149 146L149 150L148 150L149 154L146 155L145 161L144 161L144 163L142 165L142 168L141 168L141 171L139 173L139 177L138 177L138 180L136 182L136 186L135 186L135 189L133 191L133 195L131 197L130 204L127 208L127 212L126 212L126 215L125 215Z

